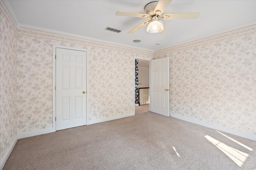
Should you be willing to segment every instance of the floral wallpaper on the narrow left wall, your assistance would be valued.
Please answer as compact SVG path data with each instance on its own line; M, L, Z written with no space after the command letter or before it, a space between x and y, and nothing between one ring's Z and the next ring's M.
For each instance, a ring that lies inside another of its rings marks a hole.
M16 25L0 1L0 162L17 137Z

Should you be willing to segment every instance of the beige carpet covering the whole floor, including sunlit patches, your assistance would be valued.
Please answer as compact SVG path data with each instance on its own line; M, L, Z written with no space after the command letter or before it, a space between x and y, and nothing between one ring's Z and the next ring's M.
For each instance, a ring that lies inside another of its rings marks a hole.
M4 170L255 170L256 141L136 107L136 115L19 139ZM225 136L226 135L226 136Z

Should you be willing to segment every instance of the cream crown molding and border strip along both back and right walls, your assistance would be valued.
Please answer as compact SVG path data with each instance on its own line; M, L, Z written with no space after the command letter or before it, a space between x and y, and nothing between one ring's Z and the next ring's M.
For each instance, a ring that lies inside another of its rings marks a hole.
M253 24L253 25L251 25ZM244 27L244 25L240 25L239 29L235 29L237 27L233 27L231 31L228 31L230 29L225 29L220 32L217 32L219 34L212 35L212 36L205 36L205 37L198 37L196 40L195 39L190 39L188 41L183 41L180 44L176 46L171 46L165 49L161 49L158 51L149 51L148 49L142 49L142 48L134 48L132 46L128 45L122 45L118 43L113 43L109 41L103 41L100 39L93 39L90 37L85 37L82 35L76 35L76 34L71 34L71 33L66 33L66 32L61 32L61 31L56 31L52 29L46 29L42 27L35 27L32 25L26 25L26 24L18 24L18 33L23 34L23 35L30 35L30 36L37 36L37 37L44 37L44 38L50 38L50 39L55 39L55 40L64 40L64 41L70 41L70 42L75 42L75 43L82 43L82 44L88 44L96 47L105 47L105 48L110 48L110 49L118 49L122 51L128 51L128 52L134 52L134 53L140 53L144 55L150 55L150 56L155 56L155 55L160 55L163 53L168 53L170 51L176 51L188 47L193 47L196 45L201 45L205 43L211 43L214 41L219 41L222 39L227 39L231 37L236 37L239 35L244 35L247 33L253 33L256 32L256 21L248 23Z

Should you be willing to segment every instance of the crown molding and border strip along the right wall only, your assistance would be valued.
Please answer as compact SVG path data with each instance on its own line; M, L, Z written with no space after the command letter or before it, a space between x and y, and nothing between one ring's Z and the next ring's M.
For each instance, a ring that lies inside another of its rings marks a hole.
M222 40L222 39L237 37L239 35L254 33L254 32L256 32L256 21L246 23L246 24L240 25L238 27L233 27L233 28L230 28L230 29L224 29L222 31L219 31L219 32L215 33L215 35L207 35L207 36L204 36L204 37L198 37L197 39L190 39L188 41L183 41L179 44L176 44L176 46L172 45L172 47L168 47L168 48L164 48L164 49L155 51L154 56L155 55L160 55L160 54L163 54L163 53L168 53L168 52L171 52L171 51L176 51L176 50L180 50L180 49L193 47L193 46L196 46L196 45L211 43L211 42L219 41L219 40Z

